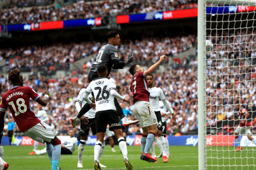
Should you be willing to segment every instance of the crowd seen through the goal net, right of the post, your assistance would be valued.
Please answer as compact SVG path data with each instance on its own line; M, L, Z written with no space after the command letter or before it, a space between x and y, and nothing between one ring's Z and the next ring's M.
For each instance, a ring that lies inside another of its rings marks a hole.
M247 35L247 32L252 34ZM212 133L233 134L239 125L236 102L250 113L256 126L256 31L235 30L228 37L213 38L215 52L207 55L207 126ZM227 31L222 34L228 35ZM222 45L230 44L230 45Z

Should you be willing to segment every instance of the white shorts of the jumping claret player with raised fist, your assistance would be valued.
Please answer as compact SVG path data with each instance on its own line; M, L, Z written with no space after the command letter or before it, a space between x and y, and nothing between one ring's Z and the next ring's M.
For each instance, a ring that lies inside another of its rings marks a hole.
M133 105L133 113L140 120L141 127L157 124L154 108L148 101L136 101Z

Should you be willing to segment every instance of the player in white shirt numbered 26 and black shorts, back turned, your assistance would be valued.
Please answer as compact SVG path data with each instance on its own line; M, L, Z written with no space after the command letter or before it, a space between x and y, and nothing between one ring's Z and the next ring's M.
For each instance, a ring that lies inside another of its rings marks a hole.
M106 65L99 65L97 73L99 74L99 78L90 82L83 95L83 99L90 105L90 107L95 108L96 106L95 118L97 121L97 142L94 145L94 169L101 170L99 165L99 154L108 124L109 130L115 133L118 140L126 168L132 170L133 167L129 163L127 157L128 151L126 141L122 134L121 122L117 115L114 103L114 97L125 102L129 102L129 99L122 97L116 92L115 80L106 77L108 75L108 68ZM88 98L88 95L92 92L94 93L95 103Z

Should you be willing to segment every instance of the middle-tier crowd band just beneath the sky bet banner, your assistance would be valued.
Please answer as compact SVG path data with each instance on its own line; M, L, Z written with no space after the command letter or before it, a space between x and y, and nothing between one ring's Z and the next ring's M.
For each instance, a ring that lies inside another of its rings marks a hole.
M146 36L145 36L146 37ZM87 41L69 44L52 44L52 45L32 45L21 46L15 49L0 48L0 57L9 60L7 70L17 67L22 71L45 71L47 74L54 74L56 68L62 69L81 58L97 54L98 50L106 42ZM162 54L163 51L167 56L176 56L179 53L193 47L196 43L195 34L181 34L175 37L148 37L142 40L132 41L131 39L123 40L118 47L119 57L124 61L128 53L132 52L137 62L147 65L148 62L154 63L155 56ZM154 52L153 52L154 51ZM142 63L143 62L143 63Z

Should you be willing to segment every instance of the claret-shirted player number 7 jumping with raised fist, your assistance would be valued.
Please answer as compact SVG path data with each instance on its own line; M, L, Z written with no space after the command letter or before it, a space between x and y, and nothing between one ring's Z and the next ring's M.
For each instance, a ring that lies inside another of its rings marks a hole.
M138 64L133 64L129 68L129 72L133 75L130 81L130 90L133 93L133 113L140 120L143 131L141 136L141 159L148 162L157 161L156 158L149 154L149 150L157 134L157 118L154 108L149 103L150 93L146 76L152 74L164 58L166 57L161 56L159 61L146 71Z

